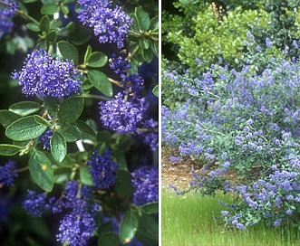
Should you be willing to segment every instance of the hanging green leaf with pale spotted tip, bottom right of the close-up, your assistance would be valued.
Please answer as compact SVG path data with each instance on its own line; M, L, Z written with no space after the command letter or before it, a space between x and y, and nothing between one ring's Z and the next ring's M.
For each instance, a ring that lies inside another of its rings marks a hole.
M132 240L138 230L139 221L139 215L131 210L124 214L124 217L121 220L119 232L122 243L129 243Z

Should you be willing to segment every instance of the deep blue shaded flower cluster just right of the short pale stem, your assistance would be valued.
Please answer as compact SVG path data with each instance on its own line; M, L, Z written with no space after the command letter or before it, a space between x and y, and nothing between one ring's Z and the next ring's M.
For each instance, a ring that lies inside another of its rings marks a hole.
M92 160L87 165L90 166L92 180L98 189L110 188L115 184L115 175L119 166L111 160L109 149L106 149L102 155L93 152Z

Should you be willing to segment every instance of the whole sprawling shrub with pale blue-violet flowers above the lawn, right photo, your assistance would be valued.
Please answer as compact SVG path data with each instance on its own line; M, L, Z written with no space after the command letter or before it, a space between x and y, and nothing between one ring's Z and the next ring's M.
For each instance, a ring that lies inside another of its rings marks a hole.
M259 221L299 225L300 64L295 57L266 55L272 45L267 39L266 52L256 48L266 64L259 70L249 59L240 71L220 60L197 78L189 71L164 73L182 102L162 107L163 141L206 162L191 184L199 192L237 194L222 215L238 229Z

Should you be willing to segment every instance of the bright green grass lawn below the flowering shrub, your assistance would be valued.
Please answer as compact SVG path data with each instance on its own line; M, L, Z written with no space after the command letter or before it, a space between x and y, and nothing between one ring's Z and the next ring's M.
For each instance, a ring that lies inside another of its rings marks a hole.
M300 232L288 227L257 224L246 231L229 231L222 221L214 220L232 198L218 194L215 198L194 193L161 194L161 245L192 246L292 246L300 245Z

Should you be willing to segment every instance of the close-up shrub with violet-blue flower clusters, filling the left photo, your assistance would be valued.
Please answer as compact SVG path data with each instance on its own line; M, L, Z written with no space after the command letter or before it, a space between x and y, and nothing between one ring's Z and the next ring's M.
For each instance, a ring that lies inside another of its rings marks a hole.
M158 2L127 2L0 1L4 245L158 244Z

